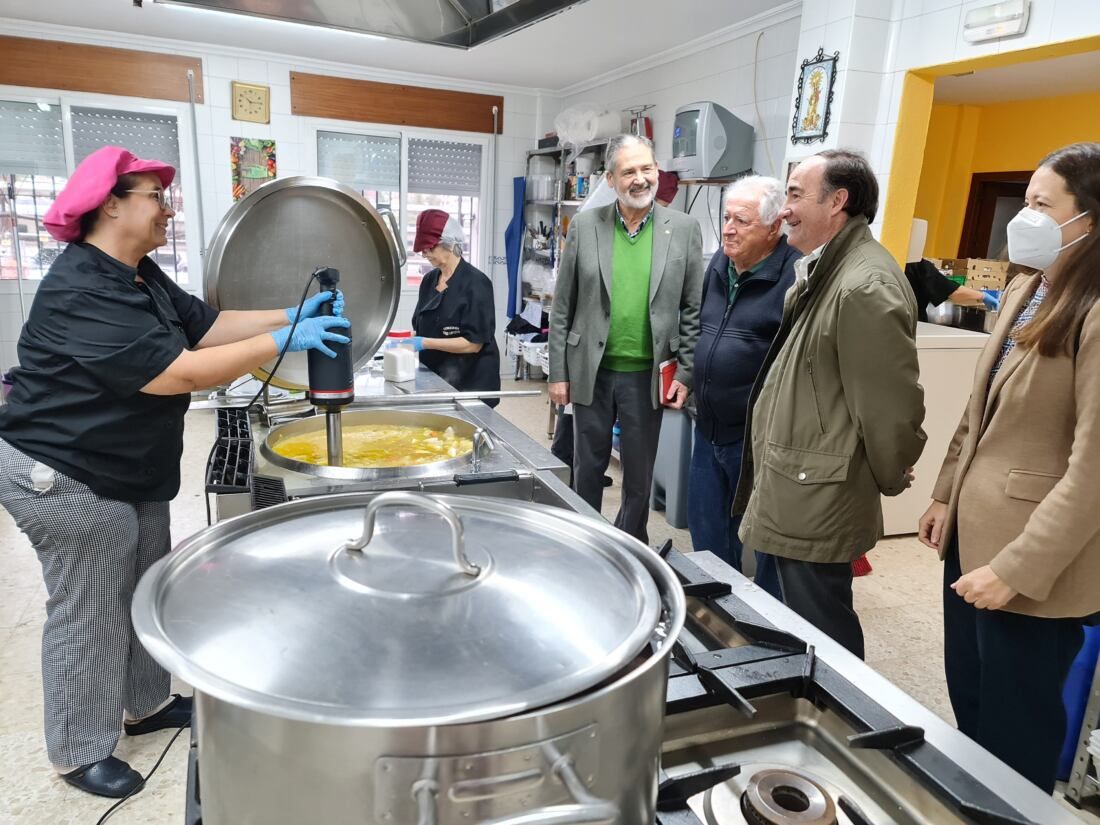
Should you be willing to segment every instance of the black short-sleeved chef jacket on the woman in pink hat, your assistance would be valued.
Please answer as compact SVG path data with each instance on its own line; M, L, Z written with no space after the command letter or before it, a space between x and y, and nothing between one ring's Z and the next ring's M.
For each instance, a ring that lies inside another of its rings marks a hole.
M139 274L144 284L134 282ZM105 498L170 501L190 396L140 391L217 317L148 257L133 268L70 243L38 285L20 334L0 438Z

